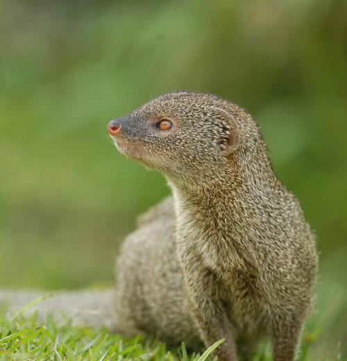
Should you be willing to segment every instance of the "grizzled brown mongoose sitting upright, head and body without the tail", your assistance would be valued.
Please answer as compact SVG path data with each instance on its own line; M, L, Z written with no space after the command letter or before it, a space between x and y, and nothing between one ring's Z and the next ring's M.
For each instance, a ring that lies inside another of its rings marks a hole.
M173 193L124 242L117 330L193 348L225 339L225 361L268 337L273 360L294 360L316 278L314 237L251 115L214 95L172 92L110 121L108 133Z

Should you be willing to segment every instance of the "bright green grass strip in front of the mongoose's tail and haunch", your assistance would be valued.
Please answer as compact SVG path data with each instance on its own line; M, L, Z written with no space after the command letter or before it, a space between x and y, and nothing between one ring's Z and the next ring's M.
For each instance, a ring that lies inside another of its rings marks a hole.
M3 317L2 317L3 318ZM211 360L218 342L202 355L188 355L185 346L168 351L154 340L124 339L106 330L58 325L49 319L38 326L35 315L0 321L0 360Z

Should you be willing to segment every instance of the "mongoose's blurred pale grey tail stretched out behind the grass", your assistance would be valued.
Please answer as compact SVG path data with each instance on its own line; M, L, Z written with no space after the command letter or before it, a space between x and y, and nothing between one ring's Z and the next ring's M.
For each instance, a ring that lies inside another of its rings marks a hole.
M38 321L42 323L48 317L53 317L56 321L69 319L74 326L109 330L115 327L115 314L112 314L113 296L110 289L73 292L0 289L0 303L5 304L6 317L9 320L19 313L27 316L37 312Z

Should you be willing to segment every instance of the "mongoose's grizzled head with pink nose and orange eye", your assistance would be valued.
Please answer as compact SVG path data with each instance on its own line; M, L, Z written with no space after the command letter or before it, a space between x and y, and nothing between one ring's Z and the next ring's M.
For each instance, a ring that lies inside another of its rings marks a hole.
M237 153L260 138L241 108L190 92L159 96L110 121L108 133L125 156L181 183L208 183L226 172L232 176Z

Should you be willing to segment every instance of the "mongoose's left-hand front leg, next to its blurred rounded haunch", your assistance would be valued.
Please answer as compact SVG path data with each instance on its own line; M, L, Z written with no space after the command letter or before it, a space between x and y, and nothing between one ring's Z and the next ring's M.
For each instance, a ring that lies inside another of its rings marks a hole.
M190 264L192 265L192 264ZM221 301L221 285L210 269L188 267L185 271L189 310L198 325L205 346L219 339L223 344L214 351L219 361L237 361L228 312Z

